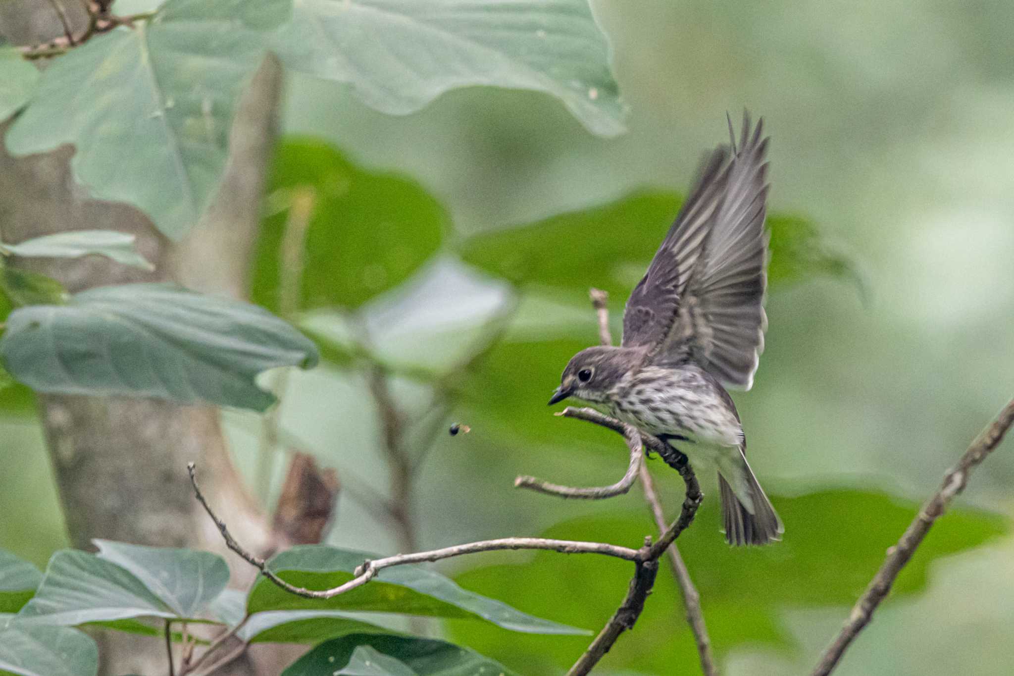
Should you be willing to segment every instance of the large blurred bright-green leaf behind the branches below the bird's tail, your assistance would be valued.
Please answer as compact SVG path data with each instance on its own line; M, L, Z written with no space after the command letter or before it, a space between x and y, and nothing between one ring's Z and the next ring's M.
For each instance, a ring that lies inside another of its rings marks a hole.
M660 467L659 472L662 483L665 468ZM669 473L674 482L679 482L675 472ZM718 532L717 500L710 496L694 526L678 540L720 656L747 645L791 649L781 613L800 606L854 602L877 571L884 551L897 540L919 509L914 503L882 494L846 490L797 498L774 497L773 502L785 521L782 542L767 547L730 548ZM673 500L672 504L677 503ZM1008 530L1009 522L1004 517L968 509L948 512L901 572L891 598L922 590L934 559L979 546ZM652 532L647 513L637 510L563 523L544 535L637 544ZM491 566L457 579L484 593L516 599L530 612L553 612L572 623L597 629L623 600L631 573L629 566L598 557L537 553L523 568ZM553 589L553 593L532 594L533 588ZM552 641L516 636L507 645L496 631L483 625L465 627L455 620L451 628L457 641L531 676L560 673L587 644L567 636ZM646 645L652 650L645 651ZM602 668L663 674L670 673L673 664L696 663L694 637L665 566L638 620L635 635L617 642Z

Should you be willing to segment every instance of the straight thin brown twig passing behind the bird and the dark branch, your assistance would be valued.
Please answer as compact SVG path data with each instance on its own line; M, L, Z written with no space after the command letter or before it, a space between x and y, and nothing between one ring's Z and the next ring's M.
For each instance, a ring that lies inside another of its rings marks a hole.
M591 298L591 305L595 308L595 313L598 316L599 342L602 345L612 345L612 335L609 332L608 294L599 289L590 289L588 291L588 297ZM591 409L586 408L583 410L584 415L587 415L587 412ZM564 411L564 415L567 415L566 410ZM586 418L585 420L588 419ZM595 422L598 425L603 424L603 421L601 420L595 420L592 422ZM676 469L680 469L680 466L685 466L686 462L684 456L679 453L674 453L673 449L668 444L650 435L642 434L642 437L648 447L662 456L669 465L676 467ZM655 519L655 525L658 527L659 532L662 533L665 531L665 513L662 510L662 503L658 499L658 494L655 492L655 483L651 478L651 472L648 471L648 467L644 463L641 464L640 475L641 484L644 486L645 502L648 503L648 507ZM682 471L680 471L680 475L683 475ZM683 475L683 479L686 479L685 475ZM696 485L696 477L694 483L694 493L697 496L700 496L700 486ZM691 483L686 484L686 495L689 498L691 496ZM698 498L698 501L700 502L700 498ZM711 651L711 639L708 636L708 627L704 621L704 612L701 610L701 594L694 585L694 581L691 579L690 571L686 569L686 565L683 562L682 556L679 555L679 549L676 548L674 543L669 545L668 554L669 562L672 566L672 575L675 577L676 584L678 585L679 591L683 597L683 608L686 611L686 621L691 625L691 630L694 632L694 641L697 643L698 655L701 659L701 669L705 676L715 676L718 673L718 667L715 663L715 656Z

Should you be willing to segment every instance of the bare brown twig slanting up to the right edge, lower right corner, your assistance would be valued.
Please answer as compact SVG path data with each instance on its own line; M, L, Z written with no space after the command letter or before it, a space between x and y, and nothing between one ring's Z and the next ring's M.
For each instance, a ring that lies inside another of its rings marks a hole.
M951 500L964 490L968 474L997 447L1011 425L1014 425L1014 400L1011 400L993 423L975 438L957 464L947 470L940 489L916 515L897 544L887 549L887 557L880 566L880 570L856 602L845 626L820 656L812 676L826 676L835 670L845 651L869 624L873 611L890 592L897 574L912 558L930 527L943 515Z

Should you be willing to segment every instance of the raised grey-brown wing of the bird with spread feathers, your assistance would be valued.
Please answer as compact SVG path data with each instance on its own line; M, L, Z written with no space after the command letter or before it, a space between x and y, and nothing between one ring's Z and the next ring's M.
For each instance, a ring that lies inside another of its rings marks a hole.
M744 117L741 146L708 157L624 312L625 347L693 360L749 389L764 351L768 139Z

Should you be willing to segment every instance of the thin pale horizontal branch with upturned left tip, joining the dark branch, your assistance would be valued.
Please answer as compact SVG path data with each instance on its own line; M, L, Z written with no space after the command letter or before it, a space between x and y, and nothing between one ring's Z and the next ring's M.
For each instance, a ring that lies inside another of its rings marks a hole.
M624 547L615 544L607 544L604 542L582 542L576 540L555 540L541 537L504 537L495 540L481 540L479 542L468 542L466 544L458 544L451 547L443 547L441 549L433 549L431 551L420 551L411 554L397 554L394 556L385 556L383 558L376 558L373 560L365 560L363 564L356 569L355 578L349 582L341 585L340 587L335 587L334 589L327 590L310 590L304 589L302 587L295 587L285 582L277 575L275 575L266 565L263 558L259 558L246 549L244 549L229 533L228 527L225 523L218 518L215 512L211 509L208 504L207 499L205 499L204 494L201 493L201 489L197 482L197 468L193 462L187 465L187 469L190 472L191 483L194 486L194 494L198 501L204 507L205 512L211 517L211 520L215 522L218 527L219 532L222 534L222 538L225 540L225 545L232 551L239 554L239 556L245 560L250 566L257 568L261 571L262 575L271 580L273 583L281 587L282 589L308 599L330 599L345 592L361 587L368 583L370 580L375 578L377 574L385 569L391 568L393 566L404 566L406 564L420 564L423 561L436 561L443 558L450 558L452 556L460 556L463 554L472 554L480 551L498 551L504 549L548 549L552 551L559 551L562 553L594 553L603 554L606 556L614 556L617 558L622 558L629 561L641 560L643 556L642 550L632 549L630 547Z

